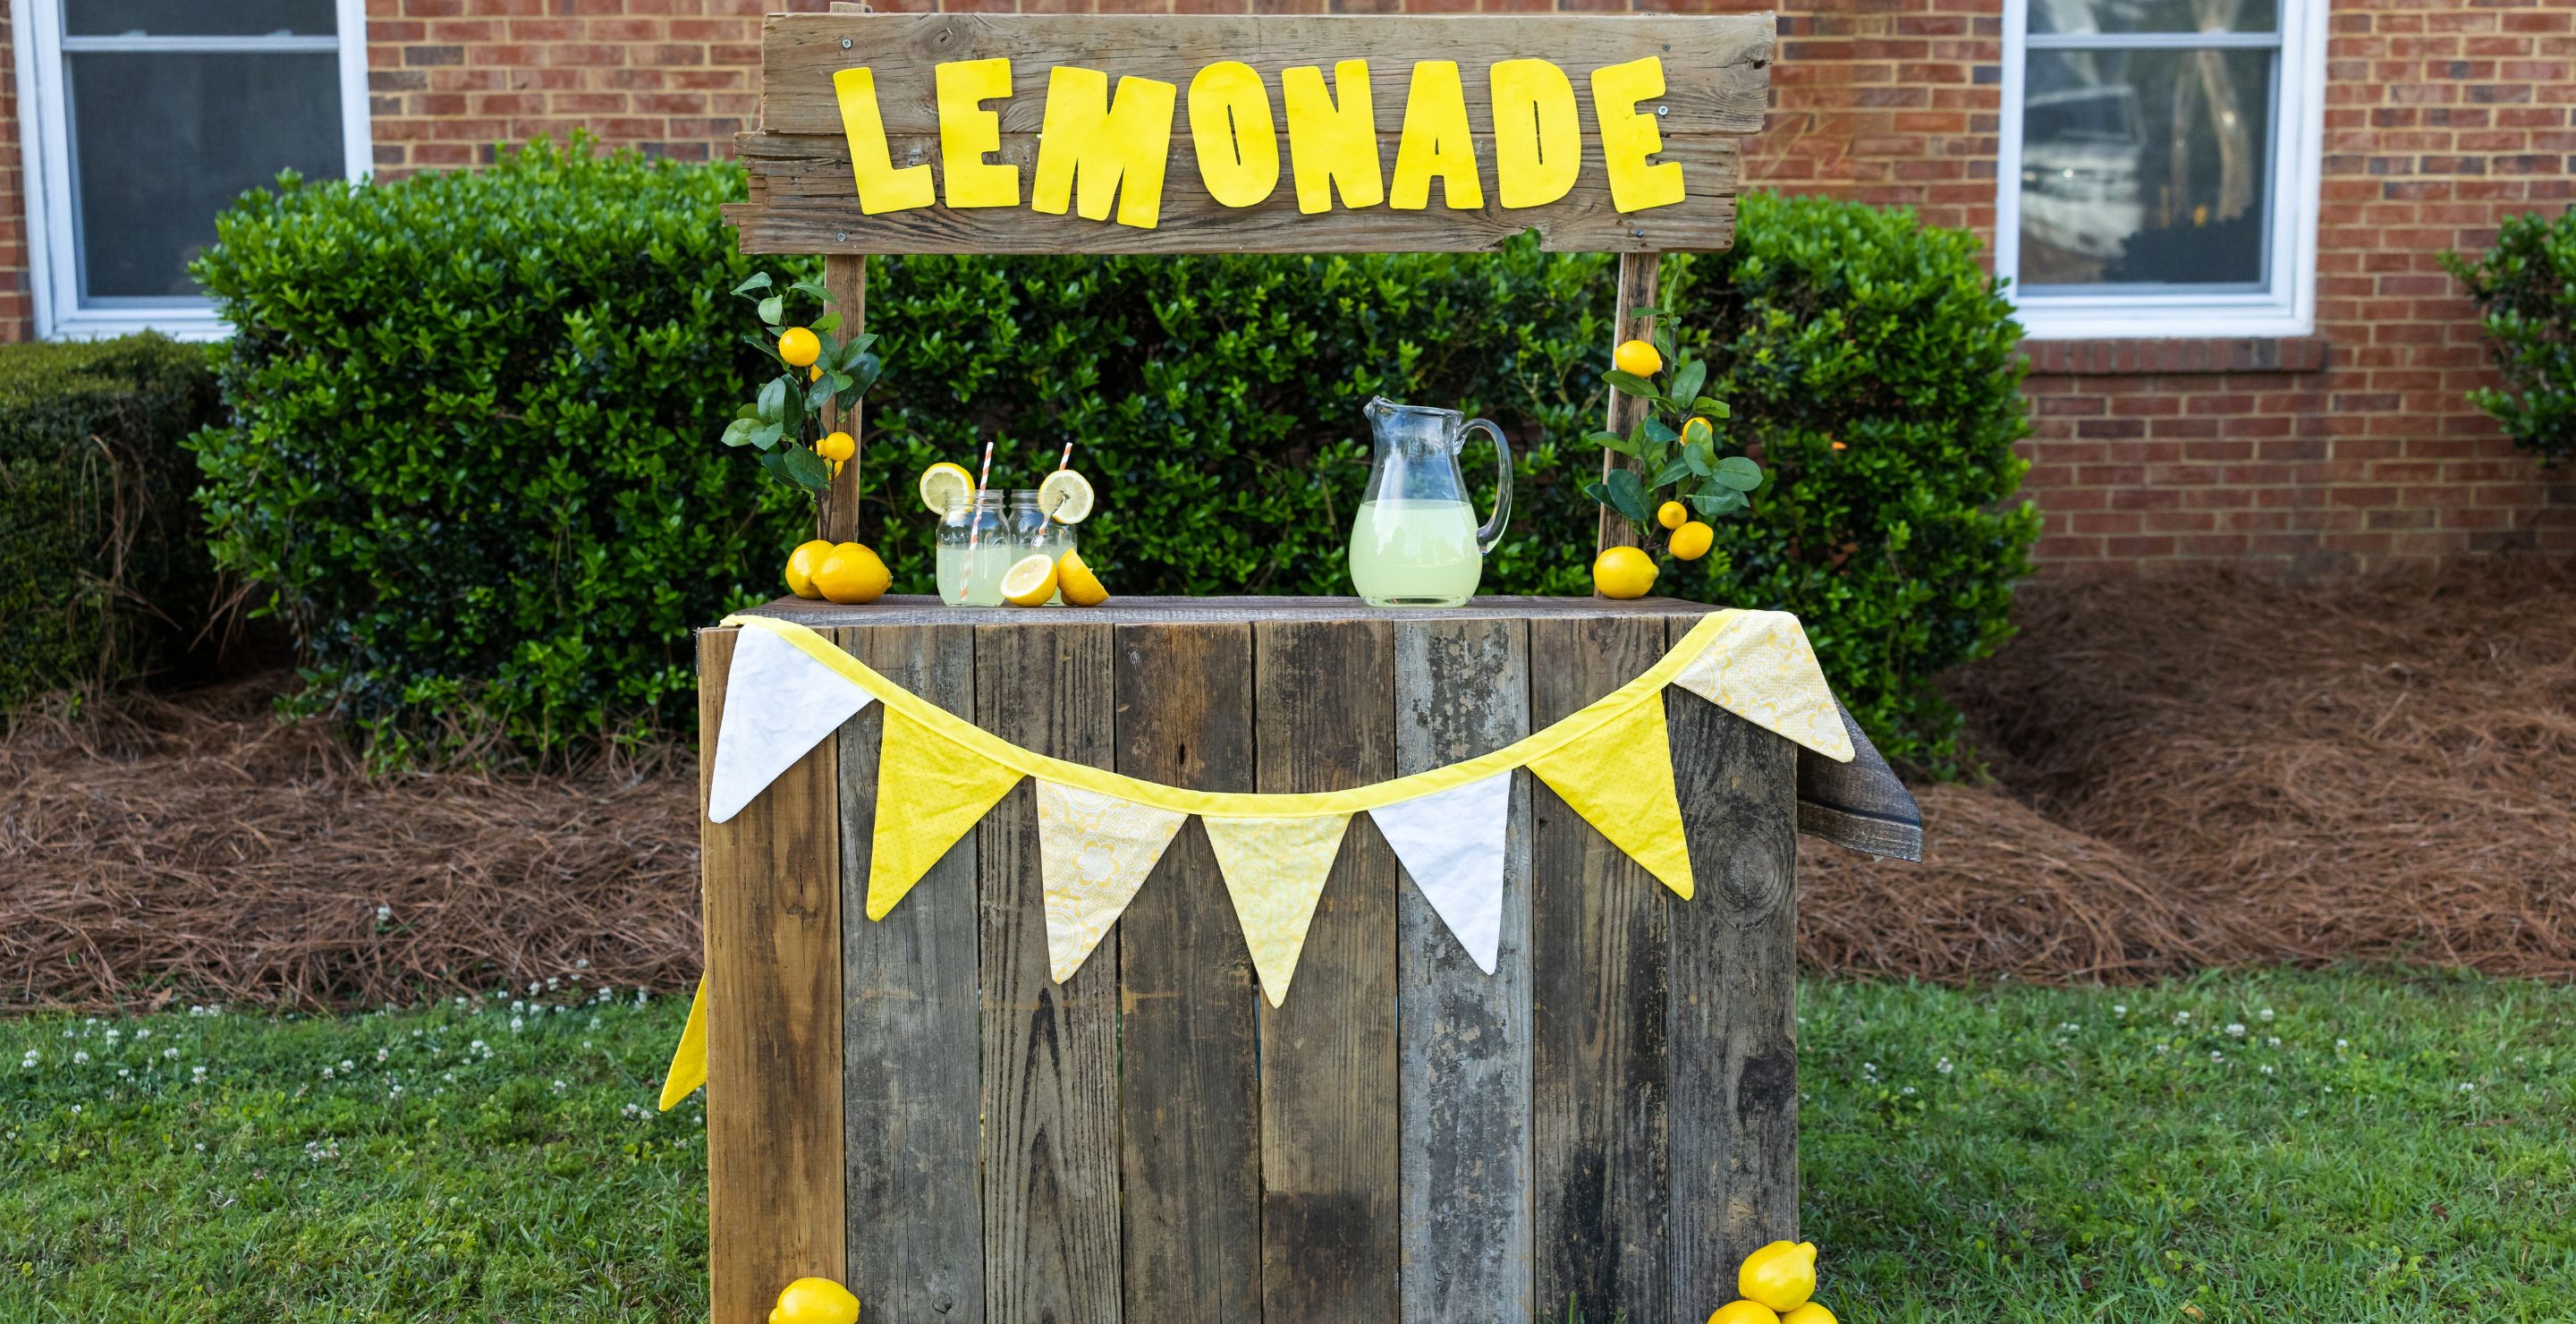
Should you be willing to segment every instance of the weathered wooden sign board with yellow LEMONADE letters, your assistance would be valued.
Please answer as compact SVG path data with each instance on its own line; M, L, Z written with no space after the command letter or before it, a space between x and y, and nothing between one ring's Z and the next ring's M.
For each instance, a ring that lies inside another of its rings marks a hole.
M1723 250L1770 59L1767 13L770 15L726 219L744 252Z

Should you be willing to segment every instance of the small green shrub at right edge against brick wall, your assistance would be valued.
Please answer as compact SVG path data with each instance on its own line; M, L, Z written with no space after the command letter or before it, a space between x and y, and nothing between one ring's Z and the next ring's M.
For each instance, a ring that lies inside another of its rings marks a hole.
M2576 459L2576 211L2506 216L2494 252L2442 263L2478 301L2504 376L2468 399L2543 464Z

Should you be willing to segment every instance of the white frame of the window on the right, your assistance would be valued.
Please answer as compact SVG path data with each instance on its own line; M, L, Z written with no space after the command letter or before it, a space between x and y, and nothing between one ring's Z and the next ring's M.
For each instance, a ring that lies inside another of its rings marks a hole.
M2267 291L2154 294L2107 286L2102 294L2022 294L2022 85L2030 52L2102 46L2094 33L2030 33L2030 0L2004 0L2004 106L1996 124L1994 273L2032 340L2146 340L2182 335L2308 335L2316 327L2316 198L2326 137L2326 5L2280 0L2272 33L2120 33L2123 49L2254 46L2277 41L2272 90L2272 178L2267 180Z

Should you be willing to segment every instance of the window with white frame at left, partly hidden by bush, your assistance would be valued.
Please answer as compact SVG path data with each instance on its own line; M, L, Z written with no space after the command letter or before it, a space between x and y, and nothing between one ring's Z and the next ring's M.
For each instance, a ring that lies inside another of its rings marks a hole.
M366 0L10 0L36 335L224 335L188 260L276 180L363 178Z

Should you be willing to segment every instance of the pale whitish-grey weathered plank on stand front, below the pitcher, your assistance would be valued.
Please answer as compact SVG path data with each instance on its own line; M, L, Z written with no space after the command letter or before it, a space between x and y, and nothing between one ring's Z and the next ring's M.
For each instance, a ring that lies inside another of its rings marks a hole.
M1396 626L1396 773L1530 734L1520 621ZM1396 896L1406 1324L1530 1321L1530 778L1512 775L1494 974L1406 878Z

